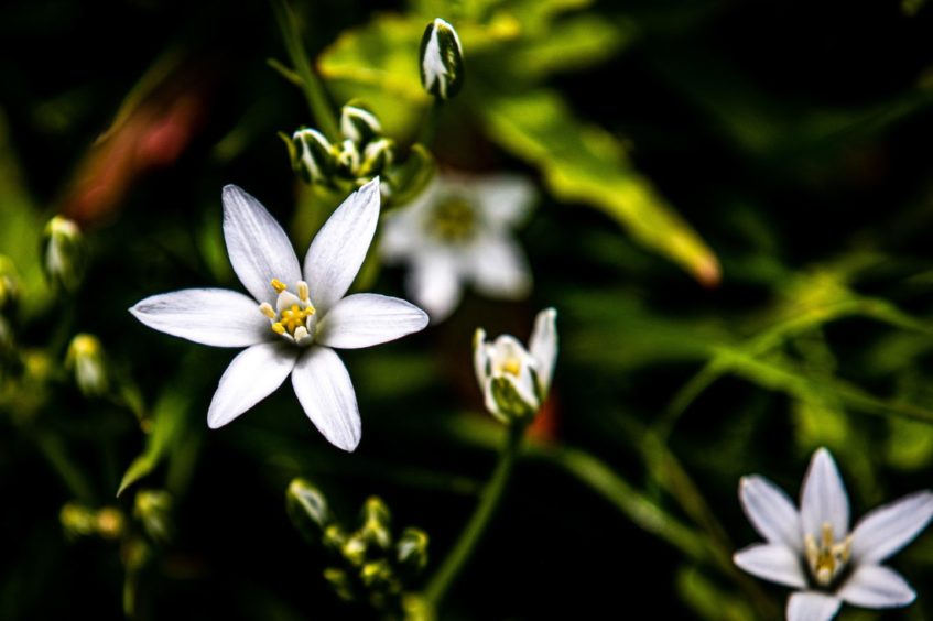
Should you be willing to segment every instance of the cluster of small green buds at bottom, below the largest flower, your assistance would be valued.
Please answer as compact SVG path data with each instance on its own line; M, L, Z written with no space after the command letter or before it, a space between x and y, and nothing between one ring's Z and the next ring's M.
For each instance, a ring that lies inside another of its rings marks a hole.
M410 526L394 537L389 508L376 497L364 503L359 526L347 530L332 514L324 494L304 479L294 479L285 498L295 527L324 548L324 578L340 599L388 614L402 609L406 586L427 565L424 531Z

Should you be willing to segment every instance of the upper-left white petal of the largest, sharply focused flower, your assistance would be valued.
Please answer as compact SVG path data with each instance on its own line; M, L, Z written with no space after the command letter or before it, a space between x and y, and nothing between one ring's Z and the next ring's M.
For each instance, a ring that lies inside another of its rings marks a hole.
M224 188L224 239L234 271L259 302L275 302L272 279L288 286L301 280L289 236L259 200L235 185Z

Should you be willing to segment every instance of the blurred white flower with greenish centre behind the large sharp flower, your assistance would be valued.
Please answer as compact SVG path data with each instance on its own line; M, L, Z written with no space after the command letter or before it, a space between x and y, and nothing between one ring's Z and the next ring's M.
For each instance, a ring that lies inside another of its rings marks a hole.
M433 322L457 307L467 282L489 297L522 298L531 272L512 229L534 197L524 177L437 175L414 201L387 216L380 249L388 262L409 263L409 295Z

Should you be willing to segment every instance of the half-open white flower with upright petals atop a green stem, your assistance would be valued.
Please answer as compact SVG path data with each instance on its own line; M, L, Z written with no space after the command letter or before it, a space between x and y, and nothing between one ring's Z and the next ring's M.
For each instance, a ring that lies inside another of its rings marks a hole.
M551 389L557 359L557 312L546 308L534 319L531 347L511 335L486 341L486 331L476 330L473 361L486 408L509 423L533 417Z

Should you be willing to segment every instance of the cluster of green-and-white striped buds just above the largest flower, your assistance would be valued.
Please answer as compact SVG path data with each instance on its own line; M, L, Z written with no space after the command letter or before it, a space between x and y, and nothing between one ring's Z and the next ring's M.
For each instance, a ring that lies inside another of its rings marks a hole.
M394 145L382 135L382 126L372 112L351 103L344 106L340 134L339 142L330 142L316 129L303 128L292 134L292 167L306 183L362 186L392 164Z

